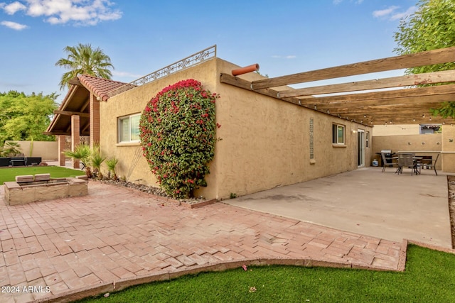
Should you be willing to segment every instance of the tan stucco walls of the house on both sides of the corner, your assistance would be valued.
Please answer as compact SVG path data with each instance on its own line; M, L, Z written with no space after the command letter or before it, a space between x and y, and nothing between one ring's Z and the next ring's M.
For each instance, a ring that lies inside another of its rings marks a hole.
M196 195L226 199L258 192L280 185L294 184L338 172L355 170L357 166L358 129L362 126L316 111L304 109L245 89L219 82L221 72L230 73L237 65L215 59L177 72L141 87L111 97L100 104L100 145L102 152L119 158L117 173L128 174L139 145L117 144L117 118L141 112L146 102L164 87L182 79L193 78L205 89L220 94L216 103L217 130L220 139L215 158L210 163L208 187ZM260 79L255 73L240 76ZM314 119L314 164L309 159L309 119ZM333 147L332 124L346 126L346 146ZM365 164L370 165L371 148L365 151ZM156 184L144 157L134 166L129 181Z

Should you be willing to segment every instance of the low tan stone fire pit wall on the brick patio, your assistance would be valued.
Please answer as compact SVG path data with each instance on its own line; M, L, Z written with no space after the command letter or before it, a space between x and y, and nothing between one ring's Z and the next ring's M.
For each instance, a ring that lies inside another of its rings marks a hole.
M84 196L88 194L88 182L77 178L51 179L44 182L4 182L6 204Z

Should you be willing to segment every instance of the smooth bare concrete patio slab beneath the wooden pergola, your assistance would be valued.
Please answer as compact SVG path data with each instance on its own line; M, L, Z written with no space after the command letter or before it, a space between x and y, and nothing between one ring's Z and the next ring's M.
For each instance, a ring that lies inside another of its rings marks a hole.
M447 175L367 167L225 203L391 241L451 248Z

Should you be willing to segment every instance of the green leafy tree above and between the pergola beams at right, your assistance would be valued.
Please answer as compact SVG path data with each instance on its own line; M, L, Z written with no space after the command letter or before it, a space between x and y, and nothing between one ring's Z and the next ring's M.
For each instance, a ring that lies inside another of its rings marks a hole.
M455 46L455 1L420 0L417 11L400 21L395 33L395 53L406 55ZM407 74L453 70L455 62L408 69ZM454 102L444 103L434 114L455 117Z

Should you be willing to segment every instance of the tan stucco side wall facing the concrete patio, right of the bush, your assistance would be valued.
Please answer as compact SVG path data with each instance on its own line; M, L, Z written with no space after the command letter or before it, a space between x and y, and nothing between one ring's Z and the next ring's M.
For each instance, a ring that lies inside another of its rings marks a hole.
M220 72L237 67L219 60ZM243 77L258 77L248 74ZM218 197L258 192L357 168L357 123L218 83ZM309 159L309 120L314 154ZM332 145L332 123L346 126L346 148ZM369 155L369 154L368 154ZM369 159L369 156L368 158Z

